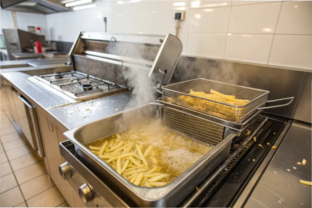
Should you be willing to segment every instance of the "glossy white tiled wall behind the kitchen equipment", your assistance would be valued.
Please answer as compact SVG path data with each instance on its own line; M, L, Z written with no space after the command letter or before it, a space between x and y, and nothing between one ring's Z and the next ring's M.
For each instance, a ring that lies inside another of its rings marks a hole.
M46 15L46 22L40 15L17 14L18 24L24 29L38 24L50 40L68 42L80 31L104 32L103 17L110 33L175 34L174 13L184 10L178 34L184 55L312 70L312 0L97 0L95 5Z

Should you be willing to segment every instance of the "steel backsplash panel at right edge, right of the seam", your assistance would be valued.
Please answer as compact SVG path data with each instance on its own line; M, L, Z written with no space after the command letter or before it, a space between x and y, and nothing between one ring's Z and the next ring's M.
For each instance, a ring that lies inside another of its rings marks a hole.
M312 73L305 72L293 118L312 123Z

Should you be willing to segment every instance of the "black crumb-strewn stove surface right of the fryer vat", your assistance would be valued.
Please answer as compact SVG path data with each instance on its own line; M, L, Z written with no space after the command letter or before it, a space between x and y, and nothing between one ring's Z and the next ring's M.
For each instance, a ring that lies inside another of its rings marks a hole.
M258 131L256 141L247 143L245 148L232 160L226 170L222 171L211 186L194 201L191 207L232 207L244 187L261 164L273 143L283 130L288 120L268 114L268 121ZM236 150L246 137L233 140L229 155ZM258 144L261 144L261 148ZM253 161L255 160L255 161Z

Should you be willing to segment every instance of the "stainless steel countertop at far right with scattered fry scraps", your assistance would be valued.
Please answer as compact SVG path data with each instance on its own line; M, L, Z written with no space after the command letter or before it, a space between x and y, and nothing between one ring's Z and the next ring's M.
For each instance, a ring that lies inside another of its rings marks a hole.
M245 207L311 207L312 186L299 181L312 181L311 144L312 125L294 121Z

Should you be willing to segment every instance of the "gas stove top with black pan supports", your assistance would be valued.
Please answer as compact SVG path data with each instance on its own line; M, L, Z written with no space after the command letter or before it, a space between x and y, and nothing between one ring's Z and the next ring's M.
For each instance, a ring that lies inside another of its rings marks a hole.
M40 85L48 85L52 89L57 89L77 101L97 98L129 89L117 83L102 80L78 71L35 75L28 79Z

